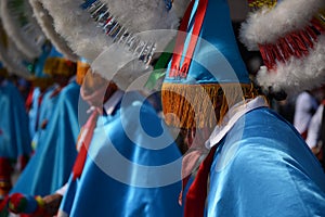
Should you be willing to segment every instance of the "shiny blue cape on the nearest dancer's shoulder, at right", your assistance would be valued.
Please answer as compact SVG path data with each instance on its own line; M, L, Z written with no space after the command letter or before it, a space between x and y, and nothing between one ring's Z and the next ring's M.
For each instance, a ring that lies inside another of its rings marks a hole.
M324 171L300 135L273 111L247 113L219 145L207 216L325 215Z

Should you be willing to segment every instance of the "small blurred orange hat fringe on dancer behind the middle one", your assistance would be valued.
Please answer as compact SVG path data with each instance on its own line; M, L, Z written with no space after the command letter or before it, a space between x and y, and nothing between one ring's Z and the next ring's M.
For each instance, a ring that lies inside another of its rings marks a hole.
M49 75L72 76L76 74L77 64L63 58L49 58L44 64L44 73Z

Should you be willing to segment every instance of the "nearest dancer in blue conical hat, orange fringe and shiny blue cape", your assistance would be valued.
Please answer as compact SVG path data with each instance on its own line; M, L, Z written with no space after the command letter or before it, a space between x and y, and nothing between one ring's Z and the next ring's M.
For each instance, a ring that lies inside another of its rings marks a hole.
M324 216L325 174L299 132L251 86L226 1L192 1L183 22L182 30L200 38L179 38L174 53L187 52L190 61L173 55L162 106L179 118L167 115L169 124L188 129L184 215Z

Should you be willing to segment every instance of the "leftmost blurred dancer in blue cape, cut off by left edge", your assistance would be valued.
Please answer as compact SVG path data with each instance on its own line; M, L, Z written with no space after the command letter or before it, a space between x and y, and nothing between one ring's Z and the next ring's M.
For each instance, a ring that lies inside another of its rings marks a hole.
M10 191L13 166L23 169L31 154L28 116L17 88L0 72L0 197Z

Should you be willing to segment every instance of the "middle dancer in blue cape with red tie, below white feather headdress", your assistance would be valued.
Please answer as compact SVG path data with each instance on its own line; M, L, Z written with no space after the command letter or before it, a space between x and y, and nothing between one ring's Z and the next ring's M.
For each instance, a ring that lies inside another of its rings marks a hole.
M182 216L181 154L168 129L139 92L106 85L87 74L81 95L92 115L69 181L42 199L43 214L55 215L63 195L58 216Z

